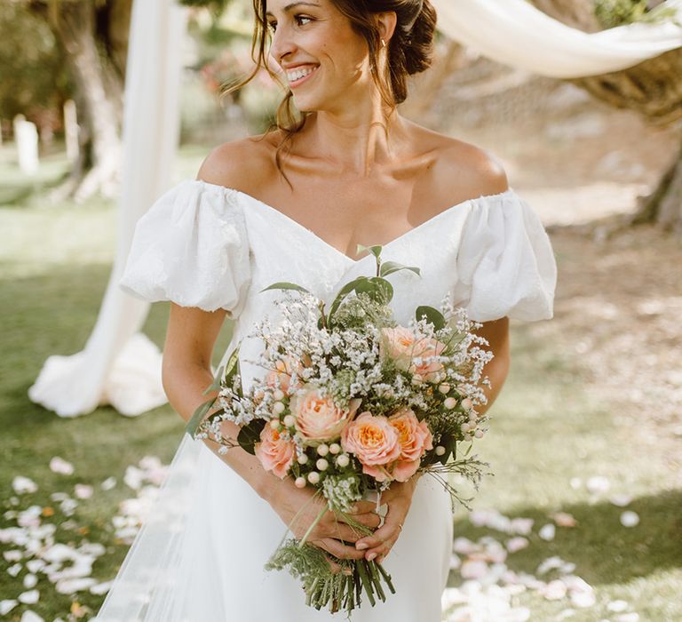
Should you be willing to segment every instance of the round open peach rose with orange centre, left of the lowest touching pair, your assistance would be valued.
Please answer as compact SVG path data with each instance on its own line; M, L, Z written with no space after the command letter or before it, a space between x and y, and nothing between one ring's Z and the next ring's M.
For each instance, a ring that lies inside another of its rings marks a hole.
M384 482L390 475L385 466L400 457L398 432L385 417L362 412L341 435L344 451L354 453L362 464L362 473Z

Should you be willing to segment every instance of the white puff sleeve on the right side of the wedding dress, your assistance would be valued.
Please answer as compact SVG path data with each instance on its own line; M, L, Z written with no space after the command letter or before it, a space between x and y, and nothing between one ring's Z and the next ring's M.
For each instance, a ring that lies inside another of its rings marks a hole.
M512 188L472 205L456 263L453 297L472 319L552 317L557 266L550 239Z

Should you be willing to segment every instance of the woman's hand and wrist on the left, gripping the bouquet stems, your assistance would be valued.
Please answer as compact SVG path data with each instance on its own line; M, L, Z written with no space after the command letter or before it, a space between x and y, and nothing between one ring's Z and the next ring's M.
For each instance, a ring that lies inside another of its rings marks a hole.
M272 482L265 498L299 540L305 536L308 528L317 519L321 511L327 507L327 501L321 494L315 497L314 491L310 487L297 488L291 478ZM350 514L353 520L370 529L377 528L381 519L375 513L375 503L359 501L353 509L355 511ZM296 521L292 523L295 516ZM341 516L337 516L327 509L306 541L319 546L338 559L357 560L364 557L364 551L358 550L355 546L348 546L344 542L355 543L359 538L361 538L361 534L357 530L344 522ZM337 563L332 560L329 560L329 563L333 571L340 570Z

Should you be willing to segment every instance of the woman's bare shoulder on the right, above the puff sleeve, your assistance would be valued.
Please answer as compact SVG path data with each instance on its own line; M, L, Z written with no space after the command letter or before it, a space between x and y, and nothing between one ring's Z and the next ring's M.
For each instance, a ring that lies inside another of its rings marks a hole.
M509 189L506 171L490 151L464 140L426 131L427 150L434 155L430 182L447 204Z

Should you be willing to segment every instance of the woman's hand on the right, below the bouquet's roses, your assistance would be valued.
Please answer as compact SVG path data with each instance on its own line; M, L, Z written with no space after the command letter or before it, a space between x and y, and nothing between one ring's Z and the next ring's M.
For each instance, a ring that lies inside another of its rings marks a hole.
M417 473L408 482L393 482L388 490L381 493L381 504L388 505L384 524L371 536L355 540L355 548L364 554L368 562L377 559L377 562L381 563L391 552L400 537L409 506L412 505L412 496L419 477L421 474Z

